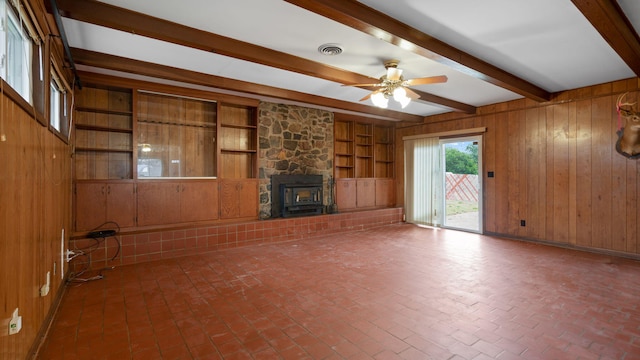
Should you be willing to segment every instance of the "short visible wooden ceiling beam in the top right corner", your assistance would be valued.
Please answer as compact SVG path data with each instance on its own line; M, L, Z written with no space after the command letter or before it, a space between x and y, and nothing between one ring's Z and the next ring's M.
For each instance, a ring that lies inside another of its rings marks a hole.
M615 1L571 0L609 46L640 77L640 39Z

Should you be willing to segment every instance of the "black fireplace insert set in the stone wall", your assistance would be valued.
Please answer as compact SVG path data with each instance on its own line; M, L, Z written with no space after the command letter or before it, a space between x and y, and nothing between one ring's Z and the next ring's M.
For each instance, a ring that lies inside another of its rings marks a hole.
M272 175L271 216L294 217L322 214L322 175Z

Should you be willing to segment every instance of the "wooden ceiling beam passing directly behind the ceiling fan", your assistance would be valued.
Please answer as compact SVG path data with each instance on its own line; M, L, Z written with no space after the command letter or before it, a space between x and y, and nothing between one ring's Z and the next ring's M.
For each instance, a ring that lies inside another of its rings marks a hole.
M278 69L296 72L340 84L379 81L350 71L340 70L283 52L198 30L149 15L137 13L94 0L58 0L63 16L194 49L246 60ZM423 91L418 101L473 114L476 107Z

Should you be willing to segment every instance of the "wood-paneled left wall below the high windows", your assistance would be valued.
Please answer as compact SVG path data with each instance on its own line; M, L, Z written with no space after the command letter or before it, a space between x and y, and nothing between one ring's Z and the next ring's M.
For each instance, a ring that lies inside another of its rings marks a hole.
M24 359L62 291L60 242L62 230L65 242L71 230L70 149L5 96L0 132L6 135L0 141L0 358ZM42 297L47 271L51 287ZM22 331L8 336L15 308Z

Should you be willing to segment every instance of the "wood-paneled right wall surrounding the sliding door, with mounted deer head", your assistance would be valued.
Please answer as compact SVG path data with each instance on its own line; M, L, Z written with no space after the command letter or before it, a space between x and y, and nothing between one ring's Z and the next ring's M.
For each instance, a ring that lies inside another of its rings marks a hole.
M485 233L564 246L640 254L640 160L615 151L616 98L640 100L633 78L517 100L476 115L428 117L396 133L398 200L404 200L407 135L486 127L483 149ZM488 178L487 172L495 177ZM520 226L526 220L526 226Z

